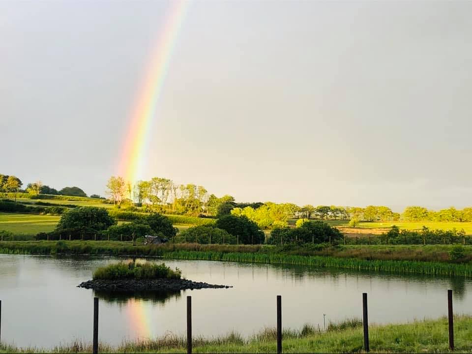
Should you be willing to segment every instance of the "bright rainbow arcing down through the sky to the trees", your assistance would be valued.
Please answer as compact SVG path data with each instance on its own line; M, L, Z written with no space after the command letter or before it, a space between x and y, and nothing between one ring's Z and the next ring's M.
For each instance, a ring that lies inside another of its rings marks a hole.
M165 24L151 55L144 85L133 110L119 163L119 175L131 184L143 178L151 125L189 0L171 0Z

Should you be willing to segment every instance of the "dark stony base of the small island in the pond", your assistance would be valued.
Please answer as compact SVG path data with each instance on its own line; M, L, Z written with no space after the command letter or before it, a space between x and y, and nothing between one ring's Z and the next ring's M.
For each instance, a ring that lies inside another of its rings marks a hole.
M130 291L177 291L193 289L232 288L229 285L214 285L194 282L187 279L118 279L89 280L78 285L79 288L99 291L130 292Z

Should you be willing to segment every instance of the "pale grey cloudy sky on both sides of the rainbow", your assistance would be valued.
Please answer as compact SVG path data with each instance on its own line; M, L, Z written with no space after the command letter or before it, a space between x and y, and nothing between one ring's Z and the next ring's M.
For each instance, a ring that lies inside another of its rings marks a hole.
M104 194L164 1L0 1L0 173ZM472 205L472 1L193 1L146 177L238 201Z

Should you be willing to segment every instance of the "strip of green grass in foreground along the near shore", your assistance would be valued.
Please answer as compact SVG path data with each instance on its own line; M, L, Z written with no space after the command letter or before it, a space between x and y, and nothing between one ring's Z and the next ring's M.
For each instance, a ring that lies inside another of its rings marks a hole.
M454 318L455 353L472 351L472 317ZM284 329L283 353L354 353L363 352L362 324L348 320L329 324L326 332L304 325L299 330ZM370 325L370 349L374 353L447 353L447 319L415 321L407 324ZM193 338L194 353L276 353L275 328L265 328L250 338L237 333L213 338ZM91 343L74 342L51 349L16 348L0 345L0 353L53 352L90 353ZM125 341L118 347L101 343L99 353L185 353L185 336Z

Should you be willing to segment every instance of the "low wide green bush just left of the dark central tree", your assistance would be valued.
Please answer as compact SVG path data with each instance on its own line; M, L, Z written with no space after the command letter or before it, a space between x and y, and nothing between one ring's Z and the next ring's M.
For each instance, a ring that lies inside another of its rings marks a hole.
M236 244L236 237L226 232L226 230L204 225L194 226L182 231L176 237L176 242Z

